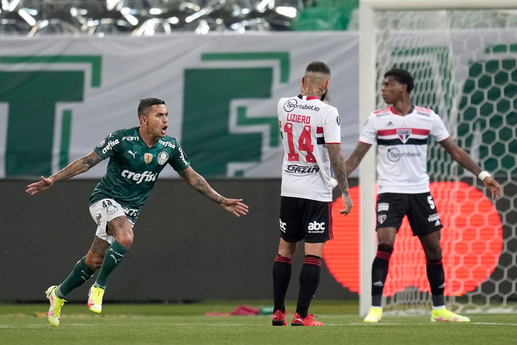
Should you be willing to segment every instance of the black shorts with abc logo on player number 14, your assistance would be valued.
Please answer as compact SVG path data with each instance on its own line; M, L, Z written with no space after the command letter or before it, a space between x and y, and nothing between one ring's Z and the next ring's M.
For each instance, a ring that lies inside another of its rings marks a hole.
M322 243L333 238L332 202L281 197L280 237L285 242Z

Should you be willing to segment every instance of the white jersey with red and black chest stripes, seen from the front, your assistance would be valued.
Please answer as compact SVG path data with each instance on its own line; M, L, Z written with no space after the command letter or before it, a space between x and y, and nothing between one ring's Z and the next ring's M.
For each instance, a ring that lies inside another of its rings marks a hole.
M413 107L397 114L393 107L374 111L360 142L377 142L377 192L429 192L427 148L429 136L437 142L449 138L442 119L428 108Z

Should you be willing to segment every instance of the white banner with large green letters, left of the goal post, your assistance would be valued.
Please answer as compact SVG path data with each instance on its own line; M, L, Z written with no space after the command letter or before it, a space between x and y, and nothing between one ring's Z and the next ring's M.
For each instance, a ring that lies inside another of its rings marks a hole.
M332 71L342 147L358 138L356 33L0 37L0 178L48 176L110 132L137 126L139 100L169 109L169 131L206 177L281 176L276 107L308 63ZM103 162L80 177L100 177ZM176 177L172 169L161 176Z

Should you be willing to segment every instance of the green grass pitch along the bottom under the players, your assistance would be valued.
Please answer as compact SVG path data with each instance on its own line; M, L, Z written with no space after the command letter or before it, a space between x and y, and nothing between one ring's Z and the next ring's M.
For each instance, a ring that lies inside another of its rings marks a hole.
M272 327L270 317L206 317L230 312L240 304L268 306L267 301L199 304L103 305L92 314L83 304L67 303L61 323L51 327L47 304L1 305L2 344L483 344L516 343L517 314L468 314L471 323L437 324L429 315L385 316L363 324L357 302L314 301L311 312L323 327ZM293 312L295 304L287 304ZM289 314L290 322L293 314Z

